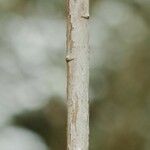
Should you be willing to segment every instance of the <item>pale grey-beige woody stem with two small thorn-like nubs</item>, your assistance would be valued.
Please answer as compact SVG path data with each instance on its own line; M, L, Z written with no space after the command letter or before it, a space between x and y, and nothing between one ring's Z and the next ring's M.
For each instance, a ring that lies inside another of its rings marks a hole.
M67 9L67 149L88 150L89 0L68 0Z

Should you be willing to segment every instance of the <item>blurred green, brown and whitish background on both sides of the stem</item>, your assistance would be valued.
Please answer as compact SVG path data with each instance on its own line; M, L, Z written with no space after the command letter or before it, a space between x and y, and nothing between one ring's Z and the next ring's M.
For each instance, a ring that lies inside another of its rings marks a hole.
M150 0L90 7L90 150L149 150ZM65 12L0 0L0 150L66 149Z

